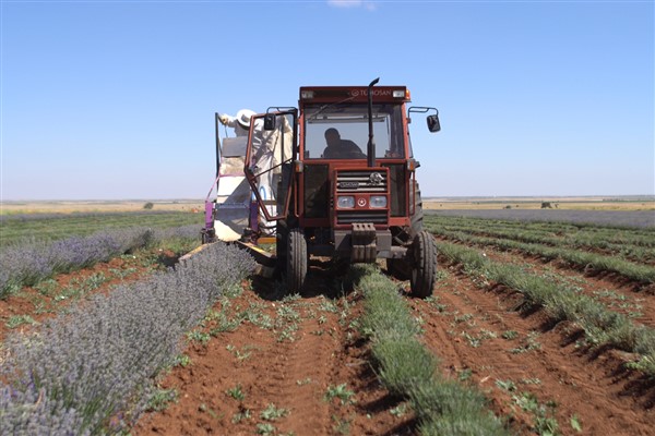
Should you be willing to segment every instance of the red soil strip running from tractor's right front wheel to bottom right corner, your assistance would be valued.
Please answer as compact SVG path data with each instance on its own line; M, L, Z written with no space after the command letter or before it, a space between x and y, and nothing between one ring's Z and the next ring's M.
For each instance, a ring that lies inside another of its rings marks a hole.
M519 292L475 282L456 265L441 270L434 300L410 300L425 341L443 373L477 385L512 428L531 434L552 416L564 435L577 434L572 419L584 434L653 434L653 382L623 370L629 355L579 347L584 334L571 323L519 312Z

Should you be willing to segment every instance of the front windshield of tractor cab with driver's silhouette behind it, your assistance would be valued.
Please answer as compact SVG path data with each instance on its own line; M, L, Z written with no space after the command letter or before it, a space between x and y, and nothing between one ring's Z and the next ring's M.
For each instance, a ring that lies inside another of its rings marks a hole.
M404 158L401 105L373 105L376 158ZM366 159L368 106L336 104L305 107L305 159Z

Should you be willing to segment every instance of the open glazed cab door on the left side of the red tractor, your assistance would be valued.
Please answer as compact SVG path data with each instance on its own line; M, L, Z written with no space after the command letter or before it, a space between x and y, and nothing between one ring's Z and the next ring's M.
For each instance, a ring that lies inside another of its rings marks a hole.
M297 154L296 110L260 113L250 120L243 173L267 223L286 218ZM264 225L265 226L265 225Z

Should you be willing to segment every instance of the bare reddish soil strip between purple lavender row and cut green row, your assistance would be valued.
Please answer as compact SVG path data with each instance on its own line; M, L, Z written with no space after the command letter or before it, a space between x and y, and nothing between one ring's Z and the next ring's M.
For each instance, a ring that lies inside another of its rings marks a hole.
M313 292L302 298L272 300L275 284L255 278L230 299L229 316L257 307L253 322L204 346L193 343L187 350L191 363L175 367L160 384L179 392L177 401L143 415L132 434L413 434L409 412L390 413L398 402L380 386L366 342L350 325L360 296L335 298L331 271L314 268L311 275ZM222 307L219 302L214 311ZM286 413L266 420L270 404Z

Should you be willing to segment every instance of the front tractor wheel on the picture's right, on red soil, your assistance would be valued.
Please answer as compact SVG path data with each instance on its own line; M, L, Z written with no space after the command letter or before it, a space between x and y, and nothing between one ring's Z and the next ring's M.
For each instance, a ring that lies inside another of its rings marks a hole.
M412 251L412 294L425 299L432 295L437 280L437 243L429 232L421 230L414 237Z

